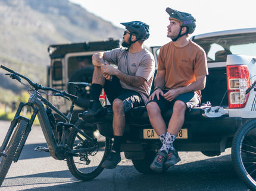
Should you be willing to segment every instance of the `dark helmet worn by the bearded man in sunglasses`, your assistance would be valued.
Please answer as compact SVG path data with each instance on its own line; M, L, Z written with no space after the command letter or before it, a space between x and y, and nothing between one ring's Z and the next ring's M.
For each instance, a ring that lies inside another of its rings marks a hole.
M141 21L132 21L128 23L121 23L123 26L126 27L130 33L138 34L137 40L146 40L149 37L149 26L146 23ZM137 41L136 40L136 41Z

